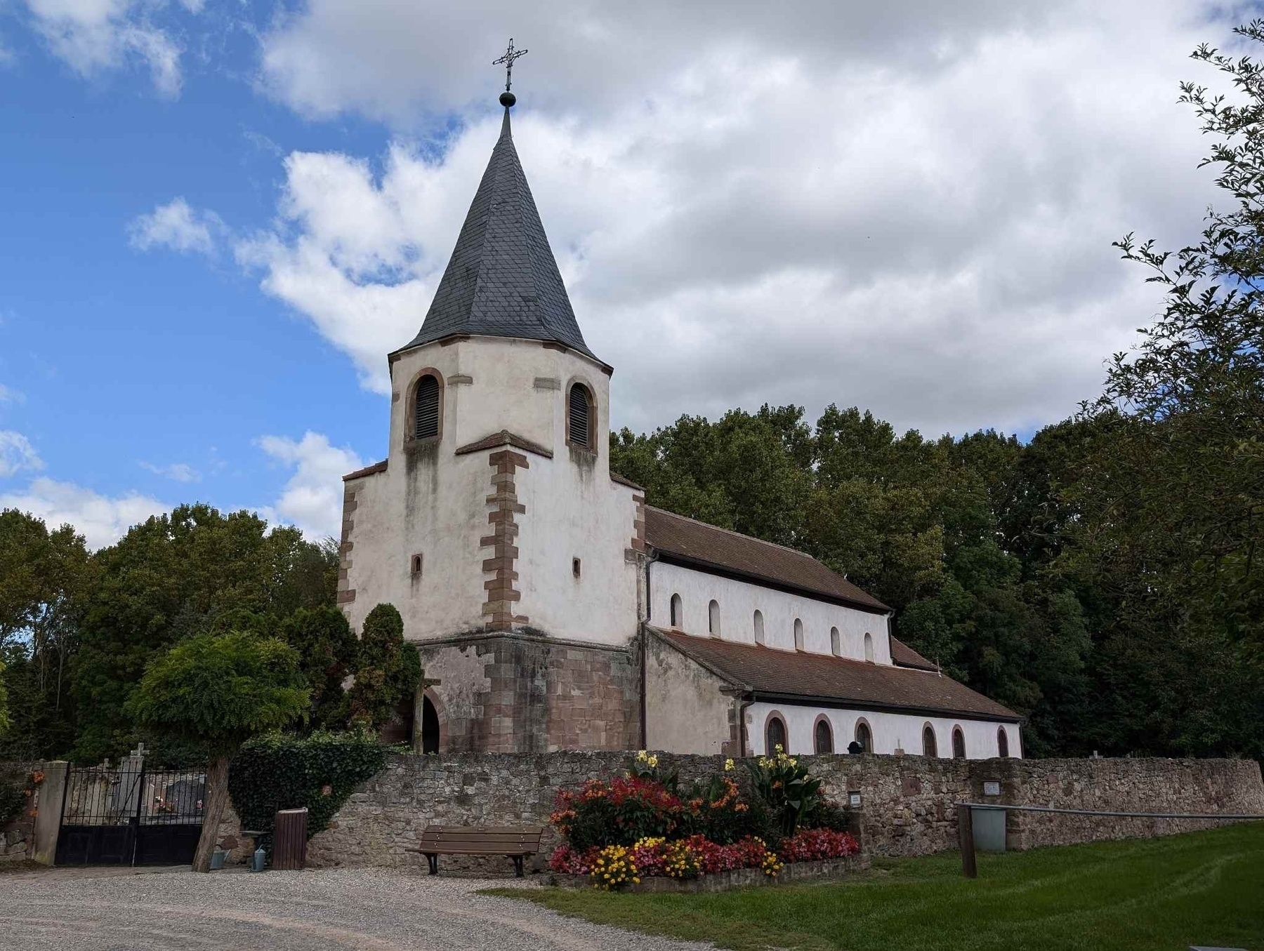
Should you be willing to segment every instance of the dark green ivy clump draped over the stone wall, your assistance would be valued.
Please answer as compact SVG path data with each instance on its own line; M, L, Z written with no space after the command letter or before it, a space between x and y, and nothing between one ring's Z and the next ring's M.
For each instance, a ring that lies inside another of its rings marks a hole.
M264 834L270 851L277 810L307 807L307 837L329 827L351 791L380 773L392 746L369 733L265 734L246 740L229 767L241 827Z

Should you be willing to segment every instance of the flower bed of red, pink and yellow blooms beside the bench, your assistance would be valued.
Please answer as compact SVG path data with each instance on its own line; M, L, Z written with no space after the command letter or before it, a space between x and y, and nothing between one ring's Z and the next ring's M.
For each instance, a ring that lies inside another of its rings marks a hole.
M841 813L824 802L820 782L780 750L752 767L751 802L727 775L733 760L684 796L657 767L642 751L626 777L559 793L550 818L566 842L549 860L554 883L713 890L860 866L856 840L827 825L839 825Z

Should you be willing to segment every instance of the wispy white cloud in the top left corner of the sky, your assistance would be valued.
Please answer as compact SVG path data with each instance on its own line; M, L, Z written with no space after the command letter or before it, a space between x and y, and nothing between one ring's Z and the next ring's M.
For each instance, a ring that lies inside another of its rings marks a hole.
M181 49L152 23L162 3L138 0L25 0L33 27L49 49L81 76L119 69L139 59L163 96L178 96ZM201 4L183 4L196 13Z

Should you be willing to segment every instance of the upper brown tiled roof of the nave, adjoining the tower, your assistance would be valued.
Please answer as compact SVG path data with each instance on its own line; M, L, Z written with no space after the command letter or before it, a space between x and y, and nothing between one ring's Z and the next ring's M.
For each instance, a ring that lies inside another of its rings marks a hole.
M719 568L809 596L846 601L862 610L891 610L810 554L695 522L652 505L645 506L645 539L659 552L676 556L702 568Z

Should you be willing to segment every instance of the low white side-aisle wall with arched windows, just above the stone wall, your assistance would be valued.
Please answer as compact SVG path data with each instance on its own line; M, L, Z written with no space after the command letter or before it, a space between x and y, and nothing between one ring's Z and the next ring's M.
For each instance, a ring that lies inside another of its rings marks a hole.
M928 673L928 677L937 674ZM856 739L856 724L863 719L873 738L873 753L905 753L921 755L921 729L930 724L935 731L937 755L952 758L952 731L959 726L966 739L967 759L990 759L999 755L997 729L1004 727L1010 741L1010 757L1023 757L1023 741L1018 722L996 722L992 720L968 720L962 717L914 716L910 714L889 714L871 710L838 710L827 707L808 707L787 703L751 703L746 710L747 743L753 755L766 755L766 733L769 715L777 712L786 725L791 755L815 751L817 719L825 716L834 733L834 753L846 753L847 744Z

